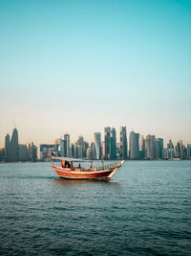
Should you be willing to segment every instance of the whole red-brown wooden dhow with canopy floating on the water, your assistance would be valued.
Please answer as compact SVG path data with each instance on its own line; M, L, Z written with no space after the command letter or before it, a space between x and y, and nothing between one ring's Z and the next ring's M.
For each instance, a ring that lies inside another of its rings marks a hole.
M66 157L52 157L52 160L60 160L61 165L55 166L52 164L55 173L64 178L89 178L89 179L99 179L99 178L111 178L116 174L117 170L122 166L124 160L117 163L112 163L105 165L102 162L101 167L93 167L92 160L83 160L75 158ZM78 163L78 166L74 166L74 162ZM90 167L81 167L82 162L90 162Z

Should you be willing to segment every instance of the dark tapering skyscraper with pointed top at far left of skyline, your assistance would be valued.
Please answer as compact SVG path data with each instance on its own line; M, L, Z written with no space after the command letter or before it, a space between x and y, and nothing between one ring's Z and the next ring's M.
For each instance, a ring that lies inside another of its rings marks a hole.
M18 131L16 128L13 129L11 135L10 144L10 159L11 162L19 161L19 148L18 148Z

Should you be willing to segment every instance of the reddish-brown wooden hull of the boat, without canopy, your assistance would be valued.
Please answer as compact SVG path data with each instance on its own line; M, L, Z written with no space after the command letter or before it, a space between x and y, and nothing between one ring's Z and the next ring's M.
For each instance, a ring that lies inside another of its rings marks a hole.
M64 169L54 165L51 165L55 173L63 178L71 178L71 179L103 179L103 178L111 178L118 170L117 168L111 170L102 170L102 171L89 171L89 172L80 172L80 171L72 171L71 169Z

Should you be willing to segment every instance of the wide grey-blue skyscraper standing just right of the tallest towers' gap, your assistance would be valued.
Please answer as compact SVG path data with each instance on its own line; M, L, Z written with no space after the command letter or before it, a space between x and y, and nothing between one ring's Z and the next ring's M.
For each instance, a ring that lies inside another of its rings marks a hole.
M129 136L130 159L139 158L138 139L139 133L131 131Z

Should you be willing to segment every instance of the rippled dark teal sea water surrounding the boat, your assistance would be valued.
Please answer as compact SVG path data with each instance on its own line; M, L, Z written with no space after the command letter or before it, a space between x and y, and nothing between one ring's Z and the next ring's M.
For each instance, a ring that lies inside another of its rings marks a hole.
M111 181L0 164L0 255L191 255L191 161L128 161Z

